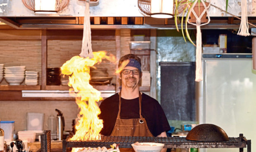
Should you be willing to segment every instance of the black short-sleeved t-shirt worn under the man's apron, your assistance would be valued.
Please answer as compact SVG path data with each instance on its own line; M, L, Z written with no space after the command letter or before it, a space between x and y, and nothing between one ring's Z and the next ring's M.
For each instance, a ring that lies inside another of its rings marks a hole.
M164 111L156 99L142 93L141 115L147 121L147 126L153 136L157 136L164 131L170 130L168 120ZM119 94L116 93L105 99L100 104L100 119L103 120L103 128L100 134L110 136L116 123L119 111ZM135 99L121 98L121 119L140 118L139 97ZM121 136L121 135L120 135Z

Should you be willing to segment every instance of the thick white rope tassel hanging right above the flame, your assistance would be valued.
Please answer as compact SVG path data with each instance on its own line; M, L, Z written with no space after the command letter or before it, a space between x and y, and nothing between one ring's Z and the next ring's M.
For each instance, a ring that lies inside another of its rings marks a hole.
M92 39L91 39L91 27L90 27L90 3L89 0L85 2L85 17L83 21L83 40L82 50L79 54L84 58L93 58L92 54Z

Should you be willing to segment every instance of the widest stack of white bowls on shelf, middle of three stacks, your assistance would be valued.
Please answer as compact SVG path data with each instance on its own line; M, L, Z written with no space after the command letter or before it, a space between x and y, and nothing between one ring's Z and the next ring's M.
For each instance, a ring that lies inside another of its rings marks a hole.
M4 78L9 85L20 85L25 78L26 66L5 67Z

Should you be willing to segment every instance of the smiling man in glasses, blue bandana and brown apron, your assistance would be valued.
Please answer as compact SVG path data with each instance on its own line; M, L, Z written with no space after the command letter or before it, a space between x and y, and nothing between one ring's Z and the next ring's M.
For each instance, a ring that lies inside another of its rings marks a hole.
M171 128L163 109L158 101L139 92L142 76L140 58L133 54L124 55L118 67L121 91L100 104L101 134L166 137L166 131Z

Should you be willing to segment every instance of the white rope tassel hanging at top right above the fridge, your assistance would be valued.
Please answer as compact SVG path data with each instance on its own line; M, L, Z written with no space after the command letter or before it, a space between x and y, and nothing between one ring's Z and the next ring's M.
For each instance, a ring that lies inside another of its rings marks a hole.
M248 18L247 18L247 0L241 0L241 23L239 30L237 32L237 35L242 35L242 36L248 36L250 35L249 33L249 25L248 25Z

